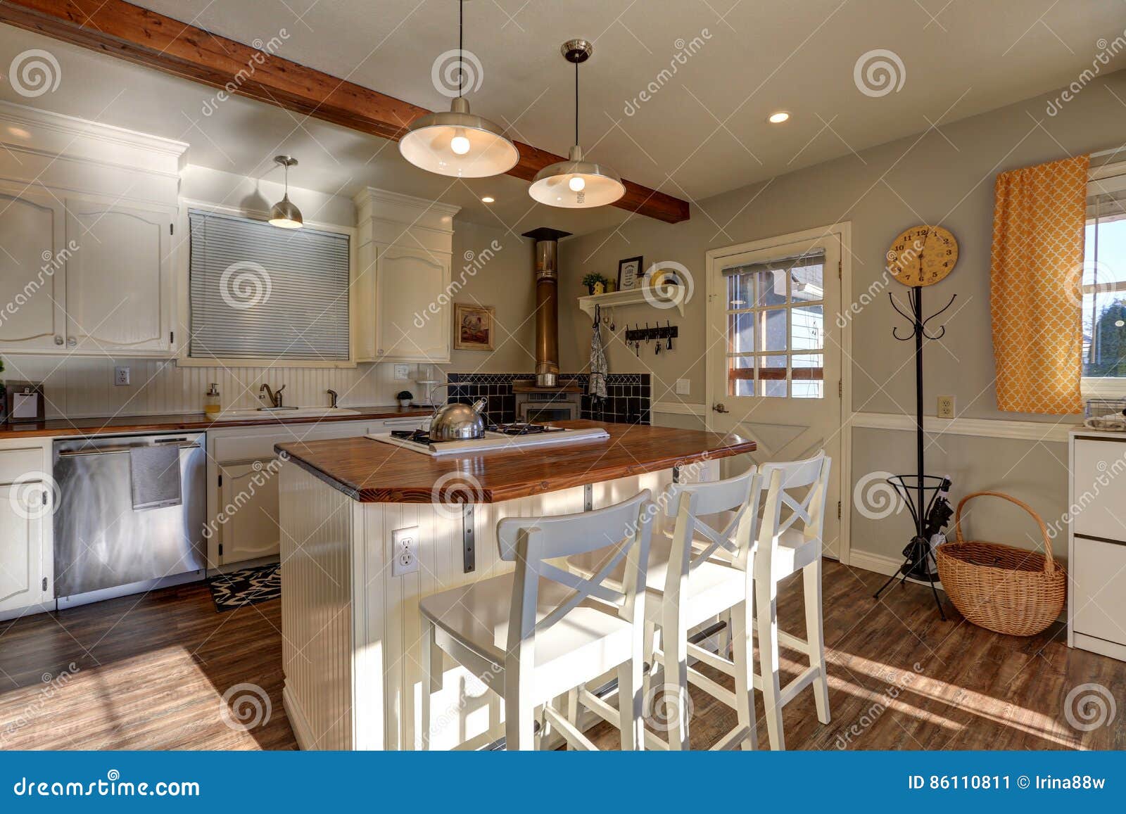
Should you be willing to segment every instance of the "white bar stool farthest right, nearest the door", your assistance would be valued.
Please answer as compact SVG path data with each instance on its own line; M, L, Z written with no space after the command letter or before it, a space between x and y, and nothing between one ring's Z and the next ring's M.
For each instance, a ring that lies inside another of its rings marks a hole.
M825 527L825 499L832 460L824 451L793 463L765 464L760 472L767 490L754 557L756 630L759 636L762 690L770 749L785 749L781 709L813 685L817 719L829 723L829 682L825 672L825 634L821 607L821 554ZM795 490L805 489L803 498ZM783 508L787 510L783 518ZM778 583L798 571L805 588L805 635L807 641L778 629ZM778 644L810 659L806 668L780 687Z

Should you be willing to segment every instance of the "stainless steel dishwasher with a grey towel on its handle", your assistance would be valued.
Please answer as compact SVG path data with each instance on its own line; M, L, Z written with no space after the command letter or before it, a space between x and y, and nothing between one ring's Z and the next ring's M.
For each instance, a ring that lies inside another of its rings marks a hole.
M179 506L134 510L131 450L179 447ZM206 575L206 435L96 436L54 442L59 608Z

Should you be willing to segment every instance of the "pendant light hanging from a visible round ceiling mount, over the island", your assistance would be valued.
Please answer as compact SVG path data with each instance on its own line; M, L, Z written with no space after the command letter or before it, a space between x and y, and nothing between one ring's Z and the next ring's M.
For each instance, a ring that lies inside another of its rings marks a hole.
M622 177L609 167L583 161L579 146L579 64L590 59L595 46L586 39L569 39L560 51L574 64L574 146L566 161L548 164L536 173L528 195L540 204L565 209L605 206L626 194Z

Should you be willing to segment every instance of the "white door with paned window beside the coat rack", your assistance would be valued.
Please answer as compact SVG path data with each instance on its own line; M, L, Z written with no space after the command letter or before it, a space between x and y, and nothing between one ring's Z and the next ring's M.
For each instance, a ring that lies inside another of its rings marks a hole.
M840 235L708 252L711 429L751 438L756 463L833 459L825 554L840 556Z

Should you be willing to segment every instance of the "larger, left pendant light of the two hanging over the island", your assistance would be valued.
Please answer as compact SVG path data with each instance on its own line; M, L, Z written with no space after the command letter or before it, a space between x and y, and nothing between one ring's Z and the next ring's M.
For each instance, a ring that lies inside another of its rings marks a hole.
M464 34L463 0L457 3L457 53ZM428 113L411 122L399 140L399 152L415 167L455 178L488 178L508 172L520 160L516 145L500 125L470 113L462 96L465 71L457 77L457 97L449 113Z

